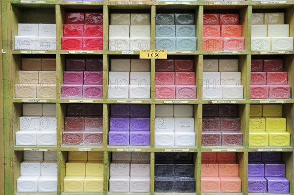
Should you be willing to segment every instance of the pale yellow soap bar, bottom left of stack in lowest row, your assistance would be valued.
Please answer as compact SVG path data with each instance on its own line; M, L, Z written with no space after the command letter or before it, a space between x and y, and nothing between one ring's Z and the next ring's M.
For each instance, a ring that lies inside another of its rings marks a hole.
M66 176L63 180L63 192L84 192L84 176Z

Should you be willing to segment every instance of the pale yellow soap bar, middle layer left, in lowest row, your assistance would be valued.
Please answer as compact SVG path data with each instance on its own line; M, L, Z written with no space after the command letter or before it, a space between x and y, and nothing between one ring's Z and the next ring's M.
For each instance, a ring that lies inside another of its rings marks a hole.
M66 176L85 176L86 162L85 161L68 161L65 167Z

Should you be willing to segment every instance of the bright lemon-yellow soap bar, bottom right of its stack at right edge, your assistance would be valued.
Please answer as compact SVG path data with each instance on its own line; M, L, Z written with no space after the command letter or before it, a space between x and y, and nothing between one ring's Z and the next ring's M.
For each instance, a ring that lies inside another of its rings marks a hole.
M270 146L290 146L290 133L286 131L269 132Z

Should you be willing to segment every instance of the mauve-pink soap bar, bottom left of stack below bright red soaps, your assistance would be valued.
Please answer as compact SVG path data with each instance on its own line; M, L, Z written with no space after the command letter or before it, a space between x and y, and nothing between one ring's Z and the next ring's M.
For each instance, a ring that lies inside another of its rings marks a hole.
M61 86L61 98L82 98L83 85L62 85Z

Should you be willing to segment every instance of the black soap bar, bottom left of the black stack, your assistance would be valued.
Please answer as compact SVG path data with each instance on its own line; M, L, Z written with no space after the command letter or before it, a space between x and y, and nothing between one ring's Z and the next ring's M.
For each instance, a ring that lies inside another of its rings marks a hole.
M174 177L155 177L155 192L174 192Z

